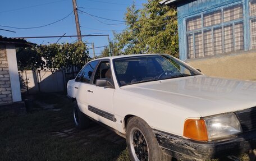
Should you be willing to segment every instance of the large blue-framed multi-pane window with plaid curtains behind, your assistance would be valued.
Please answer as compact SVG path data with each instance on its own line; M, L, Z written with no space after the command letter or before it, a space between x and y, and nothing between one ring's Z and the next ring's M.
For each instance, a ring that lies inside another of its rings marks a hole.
M256 2L256 0L253 0ZM256 3L255 3L256 15ZM255 26L256 21L252 26ZM202 13L186 20L188 58L198 58L244 49L243 5ZM255 35L256 48L256 35ZM253 42L253 41L252 41Z

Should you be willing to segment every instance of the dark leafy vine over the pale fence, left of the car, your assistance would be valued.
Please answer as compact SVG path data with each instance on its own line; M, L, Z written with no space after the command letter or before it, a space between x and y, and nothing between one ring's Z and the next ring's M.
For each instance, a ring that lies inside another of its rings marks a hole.
M81 68L89 61L85 43L38 45L35 48L19 49L17 61L19 70L60 70L72 66Z

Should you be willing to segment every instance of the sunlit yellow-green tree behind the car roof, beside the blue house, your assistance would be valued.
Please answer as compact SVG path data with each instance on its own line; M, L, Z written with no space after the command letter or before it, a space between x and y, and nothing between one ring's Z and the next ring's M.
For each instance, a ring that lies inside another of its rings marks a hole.
M127 8L126 29L114 33L118 49L125 54L168 53L179 54L177 11L161 6L159 0L148 0L143 8L136 10L135 4Z

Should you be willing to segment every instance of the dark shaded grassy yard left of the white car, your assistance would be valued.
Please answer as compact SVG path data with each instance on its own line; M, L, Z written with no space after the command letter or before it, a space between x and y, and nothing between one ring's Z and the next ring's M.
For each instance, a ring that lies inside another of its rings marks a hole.
M0 113L0 160L130 160L126 144L114 144L100 137L86 137L88 144L79 138L66 139L53 136L52 132L63 130L66 125L56 126L54 118L65 117L72 125L72 103L61 94L34 95L31 113L16 116ZM54 112L40 107L55 104ZM248 155L242 155L248 161ZM217 161L214 159L212 161Z

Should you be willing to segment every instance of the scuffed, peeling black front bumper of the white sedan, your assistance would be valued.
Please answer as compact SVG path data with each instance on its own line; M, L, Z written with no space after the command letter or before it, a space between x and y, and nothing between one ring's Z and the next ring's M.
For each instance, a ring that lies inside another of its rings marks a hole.
M165 153L181 160L207 160L246 153L256 148L256 131L229 137L228 140L194 141L153 130Z

